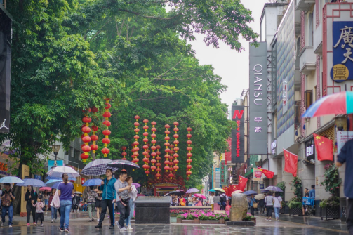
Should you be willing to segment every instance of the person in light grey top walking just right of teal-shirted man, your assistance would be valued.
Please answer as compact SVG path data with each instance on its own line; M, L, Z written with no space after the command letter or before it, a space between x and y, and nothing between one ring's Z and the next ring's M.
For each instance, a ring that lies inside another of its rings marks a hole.
M126 231L125 219L130 217L130 207L128 202L130 201L129 192L132 191L132 187L128 185L126 179L128 178L128 173L126 171L121 171L119 179L115 183L116 189L116 203L118 204L118 209L120 213L120 221L116 221L121 232Z

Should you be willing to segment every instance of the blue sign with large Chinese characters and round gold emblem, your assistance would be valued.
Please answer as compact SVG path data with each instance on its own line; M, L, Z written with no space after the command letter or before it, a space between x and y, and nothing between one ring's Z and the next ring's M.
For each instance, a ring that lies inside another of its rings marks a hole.
M333 22L333 68L337 83L353 80L353 21Z

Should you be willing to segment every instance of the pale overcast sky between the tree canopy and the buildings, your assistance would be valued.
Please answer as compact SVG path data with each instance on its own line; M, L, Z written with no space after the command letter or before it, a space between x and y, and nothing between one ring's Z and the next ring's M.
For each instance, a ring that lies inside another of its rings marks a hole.
M253 12L253 18L250 26L255 32L260 34L260 18L263 6L267 0L245 0L242 1L244 6ZM204 36L197 35L196 41L190 41L192 47L196 51L196 58L199 59L201 65L213 65L215 74L222 77L222 84L228 86L225 93L222 93L222 103L226 103L229 107L236 98L240 98L243 89L248 89L248 67L249 67L249 43L241 38L241 44L246 51L238 53L229 48L224 43L220 44L220 48L206 46L204 44Z

